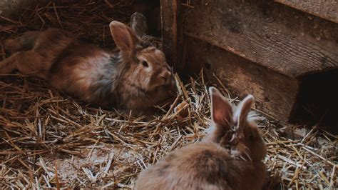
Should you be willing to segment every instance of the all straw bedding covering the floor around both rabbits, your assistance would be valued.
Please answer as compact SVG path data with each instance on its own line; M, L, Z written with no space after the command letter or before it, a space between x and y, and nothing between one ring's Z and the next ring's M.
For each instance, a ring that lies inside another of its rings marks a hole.
M111 48L108 23L126 22L132 12L128 1L109 2L51 3L28 9L12 19L1 18L0 36L62 26L86 41ZM173 105L159 108L156 116L144 121L93 108L40 79L0 76L0 189L131 188L140 171L169 151L199 141L208 128L210 97L203 74L184 84L176 79L180 94ZM214 85L228 94L221 84ZM173 108L184 100L188 115L178 116ZM265 162L272 176L267 187L334 189L338 137L317 126L299 128L304 135L288 139L285 126L268 117L260 122L268 146Z

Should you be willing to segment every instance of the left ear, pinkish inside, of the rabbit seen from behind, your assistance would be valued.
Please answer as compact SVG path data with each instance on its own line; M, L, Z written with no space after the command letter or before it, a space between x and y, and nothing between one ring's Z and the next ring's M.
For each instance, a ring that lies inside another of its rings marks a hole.
M232 106L215 87L209 88L211 94L211 116L215 124L232 124Z

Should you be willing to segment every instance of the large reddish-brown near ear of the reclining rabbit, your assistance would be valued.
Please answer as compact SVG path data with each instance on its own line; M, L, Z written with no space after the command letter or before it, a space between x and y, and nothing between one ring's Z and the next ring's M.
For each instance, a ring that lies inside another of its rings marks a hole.
M120 49L122 53L130 55L138 44L138 38L133 31L126 26L126 24L119 21L111 21L109 27L111 29L111 36L113 36L118 49Z

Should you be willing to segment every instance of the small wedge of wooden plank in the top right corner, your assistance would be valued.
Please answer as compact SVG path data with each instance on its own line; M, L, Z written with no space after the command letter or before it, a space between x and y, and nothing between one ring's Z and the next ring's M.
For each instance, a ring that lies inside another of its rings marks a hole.
M327 19L338 23L338 1L336 0L275 0L278 3L291 6L299 11L319 16L322 19Z

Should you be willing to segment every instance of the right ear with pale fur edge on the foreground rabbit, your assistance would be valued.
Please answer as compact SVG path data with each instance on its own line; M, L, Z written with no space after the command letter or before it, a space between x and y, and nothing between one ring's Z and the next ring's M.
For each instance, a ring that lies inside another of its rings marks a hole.
M237 121L237 127L245 126L245 122L247 121L247 116L251 110L253 102L254 97L251 94L247 95L245 99L240 102L234 116L234 121Z

